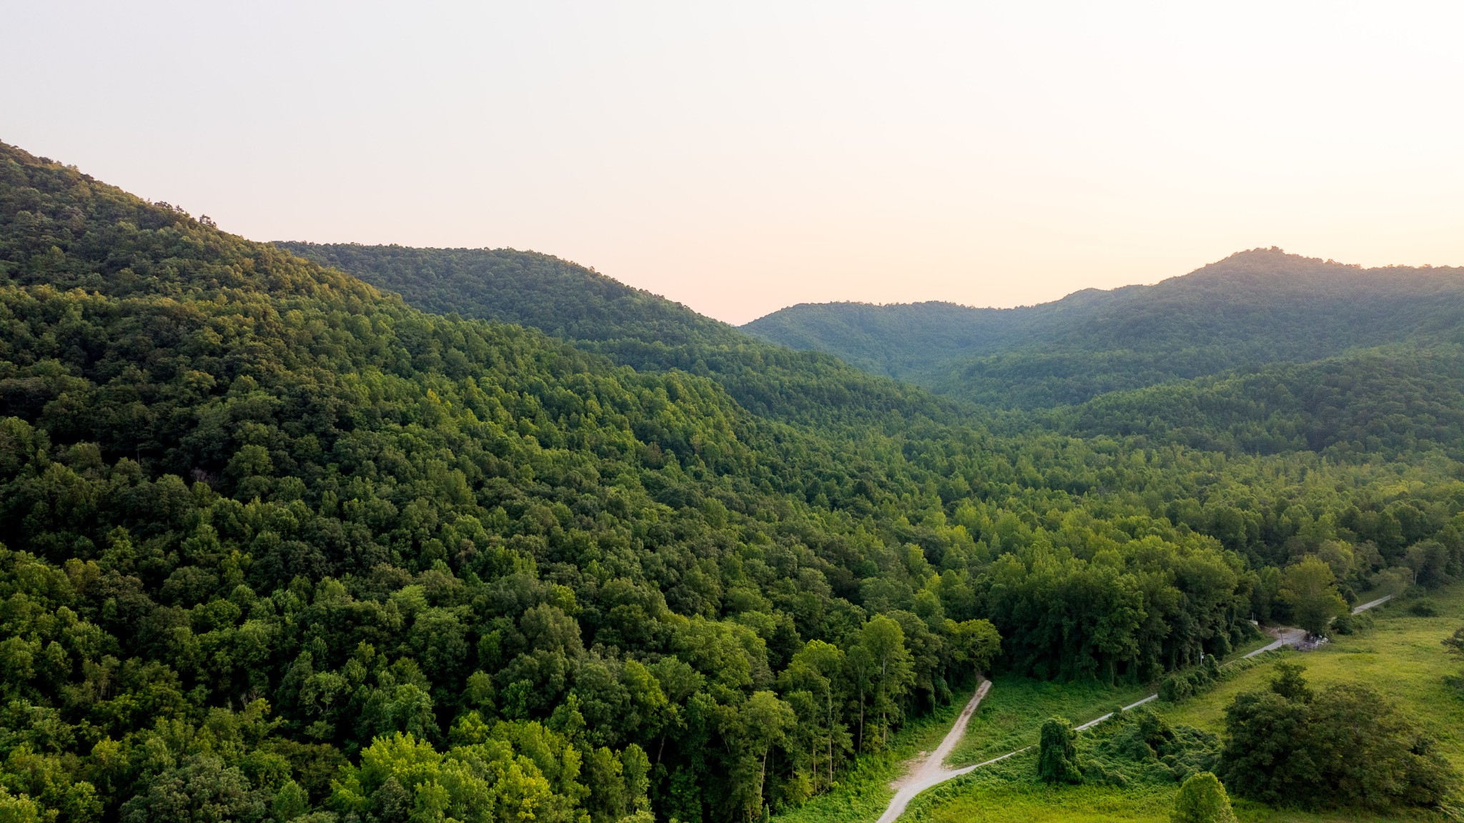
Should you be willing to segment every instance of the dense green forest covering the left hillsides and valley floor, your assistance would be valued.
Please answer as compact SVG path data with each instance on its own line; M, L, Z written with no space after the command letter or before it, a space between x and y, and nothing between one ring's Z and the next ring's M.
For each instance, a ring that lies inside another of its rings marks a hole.
M748 820L978 671L1464 576L1427 438L1012 422L553 258L321 249L0 145L16 819Z

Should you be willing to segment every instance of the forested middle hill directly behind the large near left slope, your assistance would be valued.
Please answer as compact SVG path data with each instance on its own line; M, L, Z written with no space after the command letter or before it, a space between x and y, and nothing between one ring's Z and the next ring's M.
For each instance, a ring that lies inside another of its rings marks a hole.
M581 265L512 249L275 243L429 312L520 324L640 370L710 376L748 410L801 423L886 426L968 413L827 354L770 346Z

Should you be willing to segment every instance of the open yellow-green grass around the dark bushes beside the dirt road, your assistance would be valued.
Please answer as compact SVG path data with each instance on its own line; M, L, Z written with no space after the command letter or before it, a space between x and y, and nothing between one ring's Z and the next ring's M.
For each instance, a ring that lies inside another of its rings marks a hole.
M1449 760L1464 770L1464 699L1452 693L1444 677L1458 674L1458 663L1439 641L1464 625L1464 586L1430 595L1439 615L1411 615L1407 603L1376 609L1376 625L1359 636L1337 637L1315 652L1284 652L1278 659L1306 666L1312 685L1372 682L1400 709L1411 715L1438 741ZM1275 660L1266 660L1221 682L1214 691L1180 704L1151 706L1171 723L1186 723L1220 732L1224 709L1240 691L1265 688ZM1039 684L1019 678L997 678L982 712L971 723L966 740L953 753L952 764L968 764L1004 754L1037 741L1044 718L1063 715L1075 722L1108 712L1116 703L1132 703L1151 688L1105 688L1097 684ZM1045 786L1034 781L1035 753L1025 753L996 766L978 769L937 786L911 804L903 820L931 823L1007 823L1061 820L1097 823L1165 823L1177 786ZM1435 822L1435 813L1375 816L1357 811L1313 814L1274 810L1244 801L1236 814L1255 823L1341 823L1341 822ZM877 816L845 817L874 820Z

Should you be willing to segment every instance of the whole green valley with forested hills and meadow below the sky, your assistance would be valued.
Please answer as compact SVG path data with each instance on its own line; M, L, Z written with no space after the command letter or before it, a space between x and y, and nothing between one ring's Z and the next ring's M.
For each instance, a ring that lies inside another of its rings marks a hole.
M1029 750L902 820L1161 820L1252 785L1224 709L1294 658L1427 726L1369 814L1433 819L1461 296L1262 249L739 329L534 252L247 240L0 144L0 814L874 822L990 677L950 767L1189 696L1079 732L1082 782ZM1253 621L1332 638L1212 682ZM1243 820L1356 819L1261 791Z

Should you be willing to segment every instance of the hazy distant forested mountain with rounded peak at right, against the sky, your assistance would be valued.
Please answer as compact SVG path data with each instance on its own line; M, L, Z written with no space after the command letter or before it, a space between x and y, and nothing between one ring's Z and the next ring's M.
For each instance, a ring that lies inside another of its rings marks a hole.
M801 305L747 331L996 406L1082 403L1117 390L1452 340L1464 269L1373 268L1240 252L1184 277L1085 290L1019 309Z

